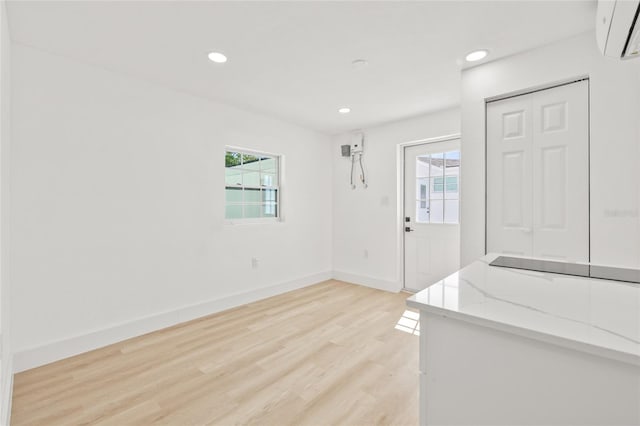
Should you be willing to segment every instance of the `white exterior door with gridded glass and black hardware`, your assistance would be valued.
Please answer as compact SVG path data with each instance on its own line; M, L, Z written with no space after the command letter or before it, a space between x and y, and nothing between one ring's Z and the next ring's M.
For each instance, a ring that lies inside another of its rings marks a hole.
M460 140L404 148L404 287L419 291L460 267Z

